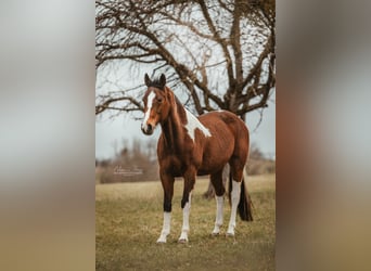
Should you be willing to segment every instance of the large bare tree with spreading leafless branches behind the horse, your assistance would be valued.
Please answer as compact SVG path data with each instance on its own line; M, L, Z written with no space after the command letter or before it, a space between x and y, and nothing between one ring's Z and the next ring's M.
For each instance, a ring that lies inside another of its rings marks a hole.
M153 66L199 115L221 108L244 119L274 91L274 0L97 0L95 15L97 74L112 63ZM98 94L95 114L140 112L141 94Z

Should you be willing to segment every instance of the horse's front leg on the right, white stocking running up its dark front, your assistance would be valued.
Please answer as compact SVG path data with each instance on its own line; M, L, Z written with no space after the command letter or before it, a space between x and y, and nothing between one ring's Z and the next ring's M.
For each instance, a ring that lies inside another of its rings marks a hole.
M190 211L191 211L191 197L192 190L195 182L196 169L190 168L184 173L184 188L183 197L181 199L181 208L183 209L183 225L181 228L181 234L179 243L188 242L188 233L190 231Z

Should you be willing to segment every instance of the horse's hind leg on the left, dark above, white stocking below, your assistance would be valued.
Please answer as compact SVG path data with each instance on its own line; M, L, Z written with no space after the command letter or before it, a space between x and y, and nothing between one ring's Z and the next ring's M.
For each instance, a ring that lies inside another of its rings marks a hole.
M226 167L225 167L225 170L226 170ZM220 227L222 225L223 194L226 192L226 189L222 182L222 176L223 176L222 172L223 170L220 170L210 176L210 181L215 190L215 199L216 199L216 206L217 206L215 225L212 232L213 235L218 235L220 232Z

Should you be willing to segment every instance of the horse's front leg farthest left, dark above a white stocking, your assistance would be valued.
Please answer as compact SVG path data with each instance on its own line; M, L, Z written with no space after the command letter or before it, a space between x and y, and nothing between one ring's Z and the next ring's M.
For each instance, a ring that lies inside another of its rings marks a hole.
M174 194L174 177L161 172L161 182L164 189L164 223L157 243L166 243L166 237L170 233L171 222L171 201Z

